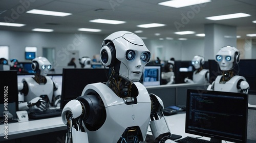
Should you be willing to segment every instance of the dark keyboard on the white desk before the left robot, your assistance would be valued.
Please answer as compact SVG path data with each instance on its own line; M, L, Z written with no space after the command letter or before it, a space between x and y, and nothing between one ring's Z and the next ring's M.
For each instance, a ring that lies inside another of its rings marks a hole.
M52 117L60 117L62 109L47 109L45 111L28 112L29 119L45 119Z

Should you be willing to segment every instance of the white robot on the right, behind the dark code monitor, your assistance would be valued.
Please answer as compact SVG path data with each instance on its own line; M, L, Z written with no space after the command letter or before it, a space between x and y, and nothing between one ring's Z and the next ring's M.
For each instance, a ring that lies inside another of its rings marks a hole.
M248 82L233 70L240 61L240 52L237 48L222 47L216 54L215 61L218 63L222 75L218 75L207 90L248 93Z

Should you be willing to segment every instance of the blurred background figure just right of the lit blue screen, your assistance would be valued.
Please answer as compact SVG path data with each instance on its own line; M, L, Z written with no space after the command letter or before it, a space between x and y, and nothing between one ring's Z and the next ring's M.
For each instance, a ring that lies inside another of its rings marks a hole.
M174 61L167 61L167 63L164 65L164 71L161 73L162 76L162 84L173 84L174 83Z

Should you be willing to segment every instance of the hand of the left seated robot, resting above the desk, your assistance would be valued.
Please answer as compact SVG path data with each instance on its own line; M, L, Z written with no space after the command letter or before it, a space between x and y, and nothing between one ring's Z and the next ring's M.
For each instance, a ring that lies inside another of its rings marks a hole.
M28 103L29 107L34 106L35 108L39 109L40 111L45 111L49 105L45 100L42 100L40 97L36 97L29 101Z

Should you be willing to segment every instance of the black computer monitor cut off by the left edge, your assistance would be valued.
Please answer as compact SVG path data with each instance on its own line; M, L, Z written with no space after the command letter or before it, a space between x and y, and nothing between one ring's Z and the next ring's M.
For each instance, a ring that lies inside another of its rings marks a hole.
M18 111L18 84L17 71L0 71L0 118L2 121L3 112L10 112L13 118L16 118L16 111ZM10 121L10 119L9 119Z

